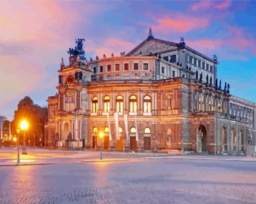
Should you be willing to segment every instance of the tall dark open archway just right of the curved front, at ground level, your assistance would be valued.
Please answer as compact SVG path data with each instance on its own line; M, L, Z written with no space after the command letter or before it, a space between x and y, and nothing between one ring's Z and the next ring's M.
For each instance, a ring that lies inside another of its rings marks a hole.
M207 151L206 144L207 132L204 125L199 125L196 133L196 151L201 153L202 151Z

